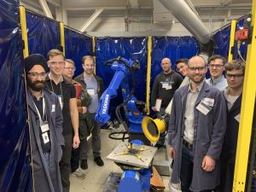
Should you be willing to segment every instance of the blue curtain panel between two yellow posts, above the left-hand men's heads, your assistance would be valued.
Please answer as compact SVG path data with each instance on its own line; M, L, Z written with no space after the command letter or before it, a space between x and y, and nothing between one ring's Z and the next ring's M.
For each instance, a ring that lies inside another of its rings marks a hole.
M83 56L92 55L92 39L66 27L64 33L66 58L75 62L77 70L74 76L77 76L84 72L82 67Z

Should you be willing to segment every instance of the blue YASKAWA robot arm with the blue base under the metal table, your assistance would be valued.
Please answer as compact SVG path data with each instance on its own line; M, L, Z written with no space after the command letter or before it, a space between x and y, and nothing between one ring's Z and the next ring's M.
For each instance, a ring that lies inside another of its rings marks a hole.
M108 89L102 94L95 119L101 125L106 125L110 121L110 116L108 115L109 102L117 96L117 90L120 86L126 108L125 118L129 125L129 132L143 135L142 120L144 114L137 108L137 98L132 96L128 84L128 76L131 73L132 67L134 67L135 61L127 61L125 59L120 60L120 58L113 59L112 61L111 69L114 72L113 79L111 80ZM138 63L136 64L138 65ZM144 144L141 140L132 140L131 143ZM151 167L141 169L127 168L120 179L119 192L149 191L151 176Z

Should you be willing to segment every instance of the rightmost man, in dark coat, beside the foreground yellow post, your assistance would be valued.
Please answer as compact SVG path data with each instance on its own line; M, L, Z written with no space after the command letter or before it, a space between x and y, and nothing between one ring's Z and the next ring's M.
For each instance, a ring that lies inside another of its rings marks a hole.
M233 186L245 62L234 60L224 67L228 81L228 87L224 90L228 106L228 122L221 154L220 191L222 192L232 191Z

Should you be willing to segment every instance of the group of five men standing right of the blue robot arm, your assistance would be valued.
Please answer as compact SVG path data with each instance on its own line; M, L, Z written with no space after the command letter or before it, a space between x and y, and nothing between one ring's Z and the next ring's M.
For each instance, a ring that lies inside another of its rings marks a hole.
M180 183L183 192L231 192L245 62L226 62L221 55L208 61L200 55L183 58L176 61L183 81L171 66L170 59L162 60L151 104L157 113L170 114L172 186L178 188Z

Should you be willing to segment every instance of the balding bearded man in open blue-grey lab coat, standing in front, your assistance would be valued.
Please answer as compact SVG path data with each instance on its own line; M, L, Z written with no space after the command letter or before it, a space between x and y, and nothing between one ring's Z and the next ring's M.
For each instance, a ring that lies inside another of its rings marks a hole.
M173 96L168 131L168 153L174 158L171 183L183 192L211 192L219 184L221 153L226 130L223 94L205 82L205 60L189 59L190 83Z

